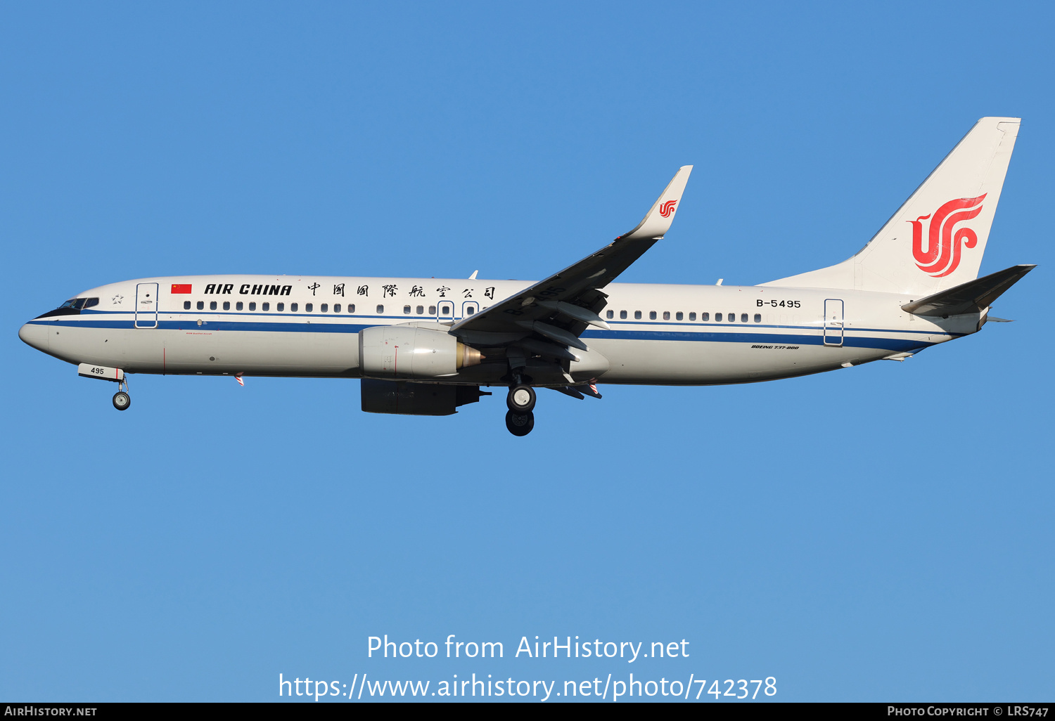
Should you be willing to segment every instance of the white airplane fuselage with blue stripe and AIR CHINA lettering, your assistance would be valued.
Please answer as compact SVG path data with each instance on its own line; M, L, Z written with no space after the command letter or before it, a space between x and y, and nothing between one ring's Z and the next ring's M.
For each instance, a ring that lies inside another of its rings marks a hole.
M326 276L146 278L81 293L78 298L98 298L97 305L31 320L20 335L69 363L126 373L360 377L359 331L449 323L530 285ZM974 333L984 323L983 313L914 316L901 306L915 298L864 291L612 284L603 292L609 298L600 315L611 330L590 327L582 333L592 353L572 364L576 381L708 385L789 377L904 357ZM484 363L437 382L502 385L505 372L504 364ZM538 385L546 384L567 381L538 378Z

